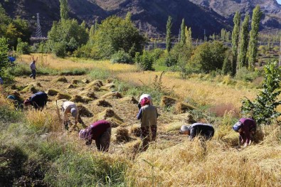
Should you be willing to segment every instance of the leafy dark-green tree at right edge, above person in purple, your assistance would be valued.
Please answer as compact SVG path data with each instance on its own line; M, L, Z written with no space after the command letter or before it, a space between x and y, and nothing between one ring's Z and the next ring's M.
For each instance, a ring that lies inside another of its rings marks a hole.
M281 93L281 68L275 62L265 65L264 70L263 90L253 102L245 98L241 107L242 114L250 115L258 124L269 124L281 114L275 110L281 104L281 101L277 100Z

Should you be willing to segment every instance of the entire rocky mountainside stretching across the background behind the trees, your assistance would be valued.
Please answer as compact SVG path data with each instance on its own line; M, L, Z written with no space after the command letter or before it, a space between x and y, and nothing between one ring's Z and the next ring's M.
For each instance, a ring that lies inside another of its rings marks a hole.
M26 18L33 27L39 13L44 36L53 21L60 18L58 0L0 0L0 4L10 16ZM204 30L209 35L219 33L221 28L231 29L235 11L252 11L256 4L266 10L263 28L280 28L281 23L280 6L275 0L68 0L68 4L70 18L85 20L89 25L96 18L100 22L107 16L125 16L130 11L137 28L154 37L164 36L169 15L173 18L174 36L178 35L181 19L185 18L193 36L202 38Z

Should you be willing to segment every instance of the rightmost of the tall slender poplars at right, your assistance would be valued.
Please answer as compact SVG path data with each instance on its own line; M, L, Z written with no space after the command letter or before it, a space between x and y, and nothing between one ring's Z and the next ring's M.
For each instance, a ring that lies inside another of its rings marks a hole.
M262 16L262 12L260 11L260 6L256 6L253 10L252 23L251 23L251 31L250 31L250 42L248 49L248 64L249 70L254 70L255 62L257 61L258 56L258 29L260 26L260 18Z

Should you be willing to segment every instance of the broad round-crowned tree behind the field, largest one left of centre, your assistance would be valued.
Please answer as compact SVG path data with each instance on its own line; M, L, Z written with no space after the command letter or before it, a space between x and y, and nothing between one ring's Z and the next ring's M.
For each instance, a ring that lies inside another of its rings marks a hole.
M94 41L94 50L100 58L110 58L118 50L124 50L134 57L136 52L142 53L146 38L132 21L110 16L95 31Z

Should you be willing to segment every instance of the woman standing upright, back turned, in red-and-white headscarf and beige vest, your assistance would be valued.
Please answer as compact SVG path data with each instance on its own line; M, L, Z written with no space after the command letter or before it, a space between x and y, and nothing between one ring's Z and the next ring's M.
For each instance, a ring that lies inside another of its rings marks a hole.
M137 114L137 119L141 119L141 139L143 150L145 151L150 141L156 140L157 134L157 109L151 105L149 98L144 97L140 101L142 106Z

